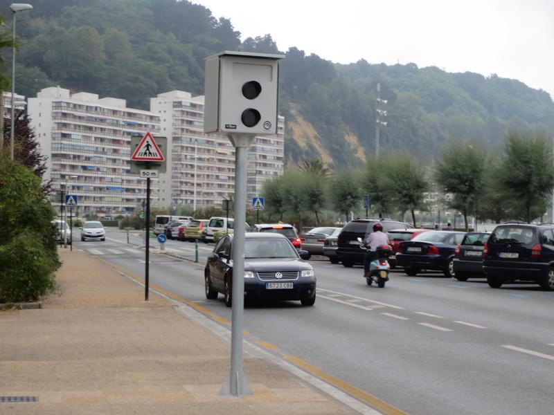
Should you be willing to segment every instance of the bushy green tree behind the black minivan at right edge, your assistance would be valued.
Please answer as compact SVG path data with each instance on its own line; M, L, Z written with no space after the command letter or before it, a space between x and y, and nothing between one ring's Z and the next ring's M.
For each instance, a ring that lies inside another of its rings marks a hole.
M530 223L546 212L554 188L552 143L538 131L508 131L499 172L515 219Z

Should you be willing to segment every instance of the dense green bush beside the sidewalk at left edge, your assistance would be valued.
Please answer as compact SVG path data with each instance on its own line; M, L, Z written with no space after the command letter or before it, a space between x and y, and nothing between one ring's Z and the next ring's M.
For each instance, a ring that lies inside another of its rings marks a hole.
M54 288L61 265L55 212L30 169L0 158L0 170L0 298L36 300Z

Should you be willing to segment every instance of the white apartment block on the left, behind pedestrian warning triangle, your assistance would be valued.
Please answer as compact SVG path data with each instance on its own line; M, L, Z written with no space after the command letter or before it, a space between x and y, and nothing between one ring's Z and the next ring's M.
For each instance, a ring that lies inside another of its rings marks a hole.
M145 201L145 179L130 172L130 139L147 131L159 135L159 115L60 86L30 98L28 113L48 157L44 180L52 181L54 205L60 205L60 191L78 195L80 214L115 216ZM159 205L157 187L152 181L154 205Z

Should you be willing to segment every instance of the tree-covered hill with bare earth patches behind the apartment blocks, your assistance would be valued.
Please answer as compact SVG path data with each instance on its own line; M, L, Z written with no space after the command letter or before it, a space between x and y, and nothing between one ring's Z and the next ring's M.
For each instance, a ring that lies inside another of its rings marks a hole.
M2 10L10 3L0 0ZM241 44L231 21L188 1L35 0L33 6L18 15L16 82L27 96L60 84L148 109L157 93L202 94L208 55L239 47L278 52L270 35ZM431 160L451 139L496 148L509 127L554 133L550 95L517 80L363 59L333 64L297 48L285 54L280 111L289 164L321 158L340 167L373 154L377 82L388 101L382 151L404 149Z

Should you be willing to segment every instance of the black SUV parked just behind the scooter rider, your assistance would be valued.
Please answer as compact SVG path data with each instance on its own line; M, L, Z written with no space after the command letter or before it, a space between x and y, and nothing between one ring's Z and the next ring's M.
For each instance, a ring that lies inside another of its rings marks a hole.
M392 219L354 219L346 223L342 228L338 239L337 257L343 266L351 267L354 264L364 262L366 249L360 248L358 238L366 239L368 234L373 232L373 225L381 223L383 232L393 229L409 229L412 226L404 222L393 221Z

